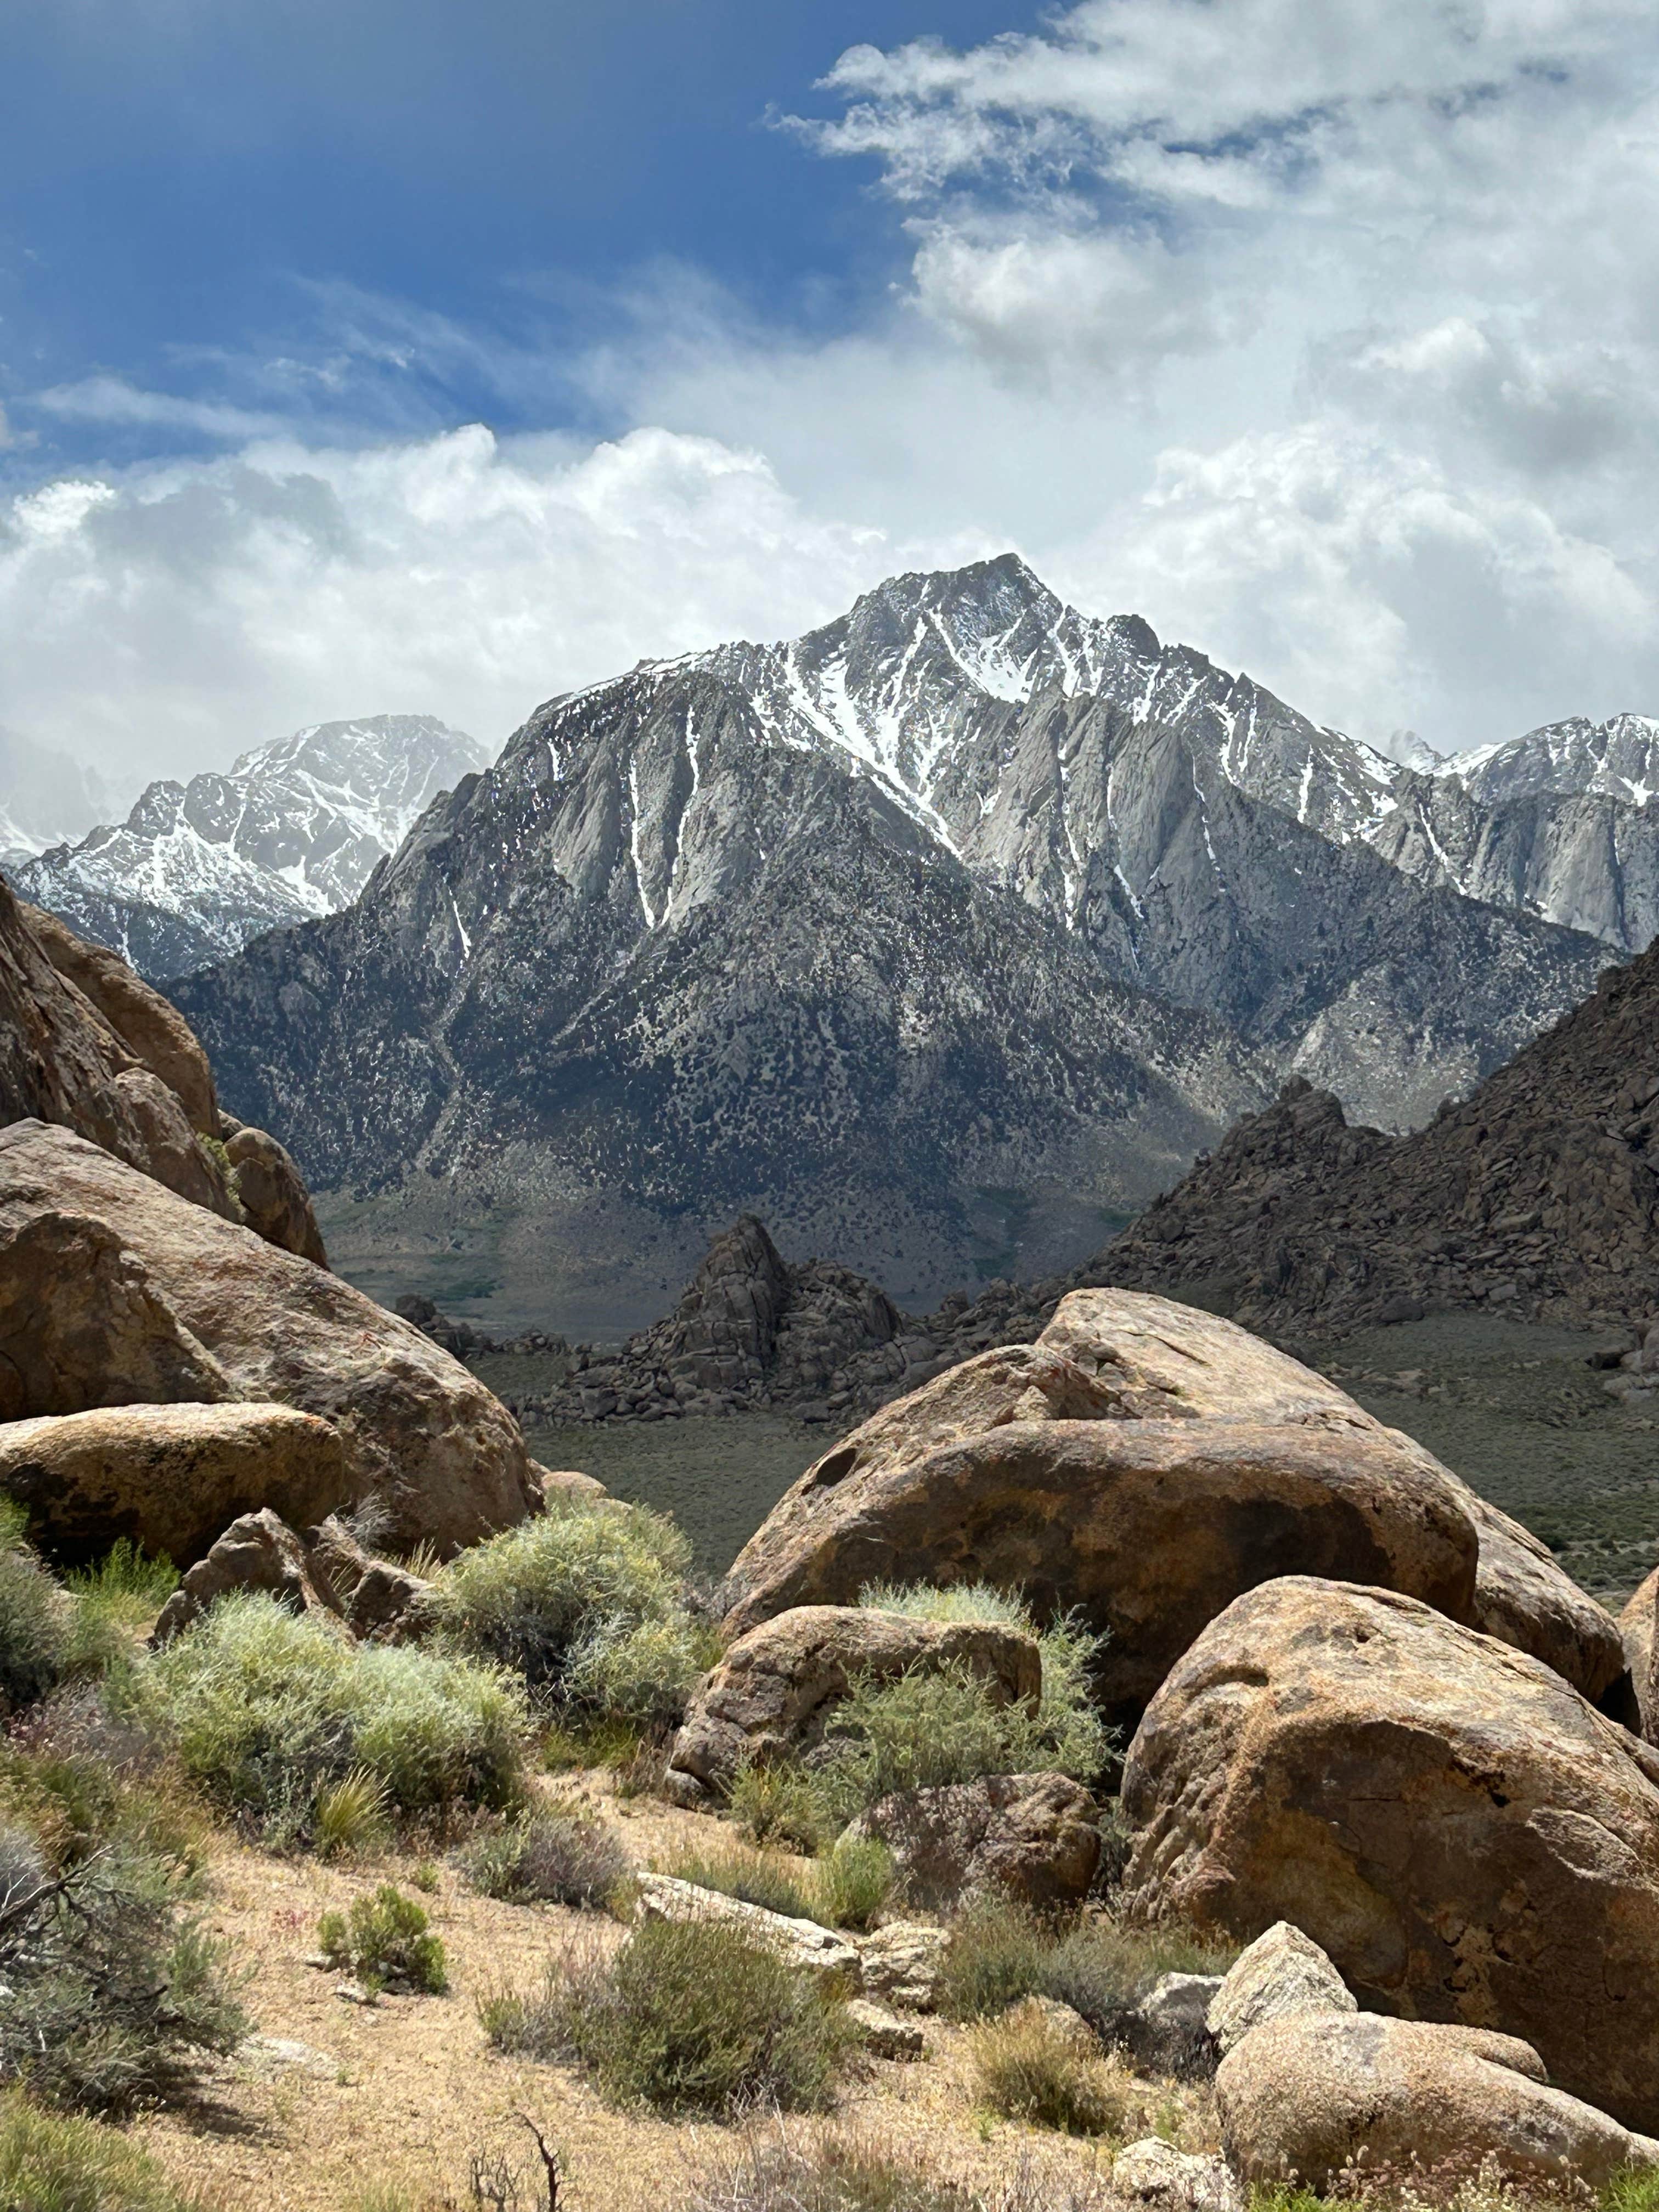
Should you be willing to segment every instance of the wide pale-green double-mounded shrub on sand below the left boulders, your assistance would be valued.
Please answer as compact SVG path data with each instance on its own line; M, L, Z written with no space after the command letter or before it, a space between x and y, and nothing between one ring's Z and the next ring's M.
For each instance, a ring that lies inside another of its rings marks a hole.
M509 1677L347 1644L265 1595L221 1599L157 1652L148 1686L186 1772L272 1840L314 1836L319 1794L354 1772L403 1814L522 1794L529 1717Z

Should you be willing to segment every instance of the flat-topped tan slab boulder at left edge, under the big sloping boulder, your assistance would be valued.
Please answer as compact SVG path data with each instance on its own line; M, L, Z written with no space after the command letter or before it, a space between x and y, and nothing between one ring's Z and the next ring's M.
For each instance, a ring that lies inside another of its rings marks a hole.
M190 1566L243 1513L332 1513L349 1473L338 1433L288 1405L119 1405L0 1425L0 1491L64 1564L131 1537Z

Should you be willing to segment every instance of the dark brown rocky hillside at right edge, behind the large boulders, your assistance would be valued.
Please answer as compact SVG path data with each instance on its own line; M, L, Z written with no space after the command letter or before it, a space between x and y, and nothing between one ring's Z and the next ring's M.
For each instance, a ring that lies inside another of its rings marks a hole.
M1553 1321L1659 1312L1659 947L1411 1137L1290 1086L1097 1261L1203 1285L1272 1329L1425 1307Z

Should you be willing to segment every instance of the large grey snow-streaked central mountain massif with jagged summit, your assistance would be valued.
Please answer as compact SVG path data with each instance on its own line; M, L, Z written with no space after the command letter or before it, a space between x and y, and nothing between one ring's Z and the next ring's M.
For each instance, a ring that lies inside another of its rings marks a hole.
M1405 768L1004 555L551 699L349 909L173 991L363 1279L591 1334L757 1210L929 1301L1082 1259L1290 1071L1405 1128L1584 998L1659 816L1498 761ZM1469 896L1575 803L1617 898L1566 832Z

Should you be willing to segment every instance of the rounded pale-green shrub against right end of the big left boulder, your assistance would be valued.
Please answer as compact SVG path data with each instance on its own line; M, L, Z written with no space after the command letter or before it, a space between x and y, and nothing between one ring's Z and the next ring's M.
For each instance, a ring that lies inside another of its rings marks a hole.
M586 1714L668 1725L714 1646L686 1597L690 1546L644 1506L557 1500L460 1553L438 1579L442 1632Z

